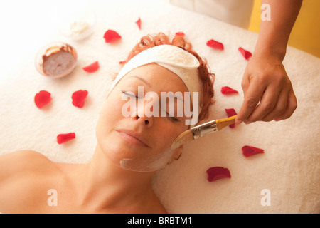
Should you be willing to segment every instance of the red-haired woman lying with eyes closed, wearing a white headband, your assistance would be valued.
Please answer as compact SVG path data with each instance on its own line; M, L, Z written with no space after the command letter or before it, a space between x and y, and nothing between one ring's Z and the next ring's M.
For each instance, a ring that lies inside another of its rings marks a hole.
M29 150L0 156L0 212L166 213L151 178L180 157L183 146L171 143L195 119L178 101L203 120L213 98L213 76L191 48L162 33L133 48L100 112L91 162L56 163ZM174 103L163 103L171 92Z

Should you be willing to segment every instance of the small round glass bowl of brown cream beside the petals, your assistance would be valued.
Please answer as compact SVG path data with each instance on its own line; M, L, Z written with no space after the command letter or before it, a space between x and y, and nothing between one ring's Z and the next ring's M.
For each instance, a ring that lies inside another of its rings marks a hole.
M77 63L77 52L68 43L55 42L43 47L36 56L36 69L43 76L61 78L70 74Z

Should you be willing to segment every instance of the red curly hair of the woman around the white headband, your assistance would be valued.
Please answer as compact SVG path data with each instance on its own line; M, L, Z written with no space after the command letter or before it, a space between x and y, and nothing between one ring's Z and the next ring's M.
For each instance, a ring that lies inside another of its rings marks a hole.
M203 85L203 93L200 98L200 108L201 113L199 113L199 121L208 118L210 105L213 104L213 82L214 74L210 73L210 68L205 60L203 60L198 53L192 50L191 43L187 42L183 36L175 36L172 41L170 41L169 36L166 36L164 33L156 34L155 36L147 35L143 36L139 43L130 51L129 56L126 61L123 61L122 64L127 63L131 58L141 53L142 51L152 48L159 45L174 45L179 48L182 48L188 53L191 53L195 56L200 66L198 67L198 76L201 79Z

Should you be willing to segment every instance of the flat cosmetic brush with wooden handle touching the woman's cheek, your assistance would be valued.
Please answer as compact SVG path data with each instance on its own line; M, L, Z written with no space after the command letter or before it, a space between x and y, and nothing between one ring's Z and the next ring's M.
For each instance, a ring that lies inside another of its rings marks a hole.
M186 130L185 132L178 135L174 142L172 142L171 150L175 150L180 145L183 145L186 142L196 140L203 137L204 135L215 133L216 131L223 129L226 126L235 123L236 116L237 115L233 115L225 119L212 120L210 122L203 123L189 130Z

